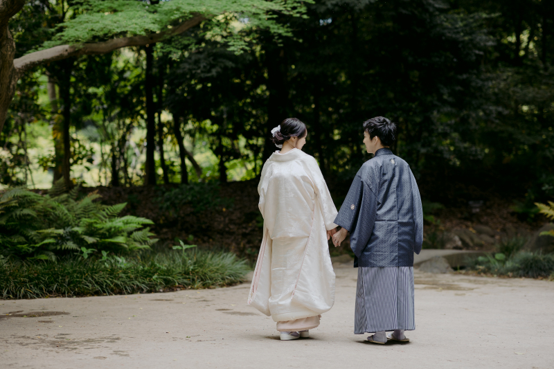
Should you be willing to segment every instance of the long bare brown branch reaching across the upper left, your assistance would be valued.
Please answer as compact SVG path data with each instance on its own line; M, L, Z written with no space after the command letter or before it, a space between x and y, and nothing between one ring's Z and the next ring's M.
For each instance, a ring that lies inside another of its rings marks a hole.
M0 0L2 1L2 0ZM22 57L18 57L13 61L15 69L19 73L26 71L27 69L44 64L48 62L55 62L56 60L66 59L67 57L75 57L80 55L94 55L105 54L110 51L114 51L118 48L128 46L144 46L148 44L154 44L160 42L167 37L184 33L189 28L193 28L204 21L206 18L202 15L195 15L183 23L179 24L170 30L166 30L160 33L151 33L150 35L134 36L134 37L120 37L116 39L110 39L105 42L95 42L93 44L81 44L81 45L60 45L53 48L47 48L42 51L35 51Z

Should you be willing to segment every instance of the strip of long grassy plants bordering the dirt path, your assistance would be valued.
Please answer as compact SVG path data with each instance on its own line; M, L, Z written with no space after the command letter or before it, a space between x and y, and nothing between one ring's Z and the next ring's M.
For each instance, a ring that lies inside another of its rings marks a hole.
M169 251L138 258L65 257L57 262L19 261L0 255L0 298L93 296L199 289L238 283L248 273L233 253Z

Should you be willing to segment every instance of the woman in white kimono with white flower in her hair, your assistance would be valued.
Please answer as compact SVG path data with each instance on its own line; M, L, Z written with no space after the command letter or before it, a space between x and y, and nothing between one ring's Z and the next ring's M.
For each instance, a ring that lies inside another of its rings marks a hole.
M280 151L262 169L258 207L264 236L248 305L277 322L281 340L309 336L334 303L328 240L337 215L313 156L302 152L307 129L296 118L271 131Z

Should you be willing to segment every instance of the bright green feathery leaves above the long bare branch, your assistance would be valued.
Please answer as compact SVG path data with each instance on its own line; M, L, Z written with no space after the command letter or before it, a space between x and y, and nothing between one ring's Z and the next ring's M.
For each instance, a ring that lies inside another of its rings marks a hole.
M289 27L277 24L277 14L301 16L301 0L172 0L149 4L136 0L82 0L79 12L57 26L58 33L43 47L80 44L98 39L159 33L195 15L208 19L205 35L227 42L240 51L247 46L244 36L252 30L265 29L274 35L290 35Z

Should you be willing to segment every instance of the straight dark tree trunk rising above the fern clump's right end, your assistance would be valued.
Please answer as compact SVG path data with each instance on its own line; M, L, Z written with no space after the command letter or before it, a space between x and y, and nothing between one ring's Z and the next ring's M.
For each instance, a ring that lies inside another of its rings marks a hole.
M156 161L154 159L154 151L156 150L156 107L154 106L154 76L152 75L154 51L152 47L152 45L146 46L144 83L146 97L146 186L154 186L156 184Z

